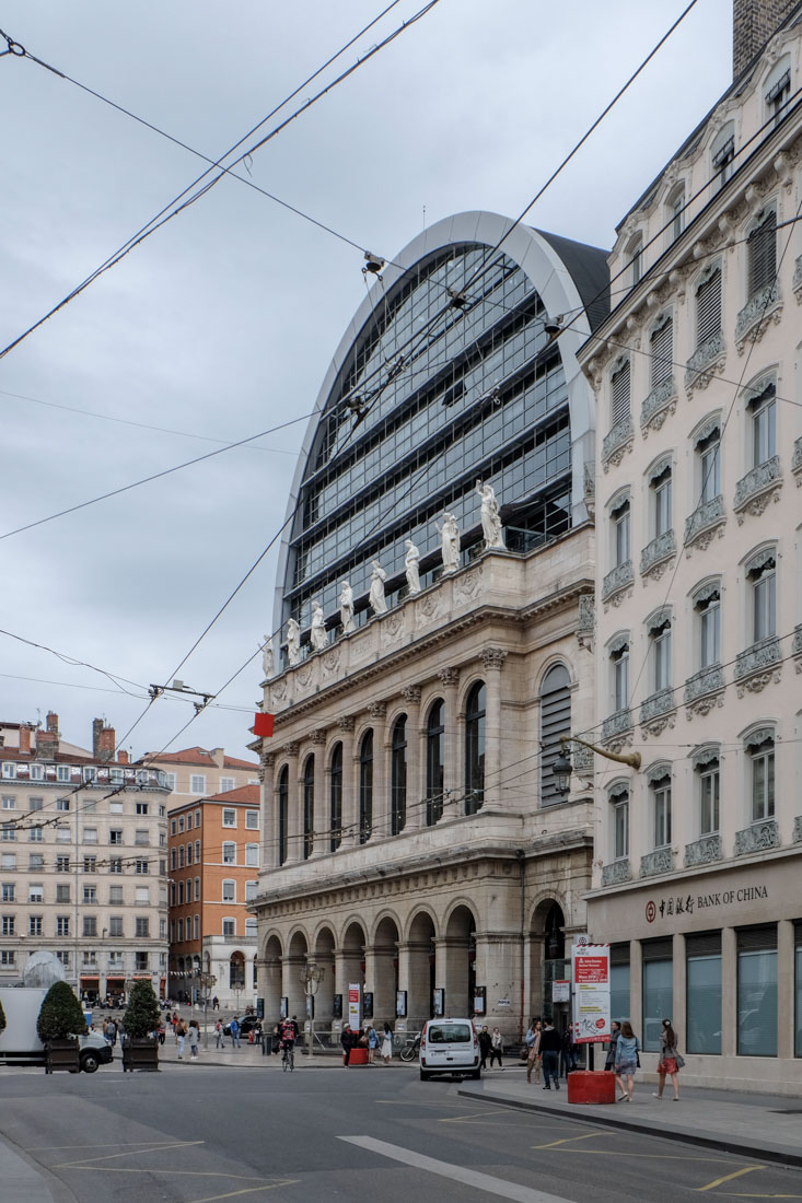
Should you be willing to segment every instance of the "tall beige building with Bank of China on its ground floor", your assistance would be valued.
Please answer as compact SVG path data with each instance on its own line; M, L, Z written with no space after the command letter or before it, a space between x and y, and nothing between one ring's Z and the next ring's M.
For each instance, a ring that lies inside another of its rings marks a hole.
M732 87L618 230L598 410L591 936L643 1063L802 1061L802 6L736 2ZM767 43L763 46L763 41Z

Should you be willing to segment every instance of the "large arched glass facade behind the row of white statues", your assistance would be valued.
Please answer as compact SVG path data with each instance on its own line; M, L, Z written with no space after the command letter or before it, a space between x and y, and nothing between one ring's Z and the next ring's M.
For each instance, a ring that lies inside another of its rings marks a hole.
M497 253L450 308L489 248L453 243L419 259L373 308L340 366L306 458L288 538L285 622L303 632L312 602L338 622L347 577L356 621L370 617L371 559L403 595L405 539L420 550L421 587L441 568L436 521L456 515L467 561L482 544L478 478L493 484L511 550L571 525L571 427L560 342L531 279ZM436 319L436 320L435 320ZM356 422L347 402L367 409Z

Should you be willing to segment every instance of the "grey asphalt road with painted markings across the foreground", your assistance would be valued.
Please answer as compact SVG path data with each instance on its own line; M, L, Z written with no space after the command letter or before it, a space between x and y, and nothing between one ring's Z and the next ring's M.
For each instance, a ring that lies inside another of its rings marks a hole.
M415 1067L0 1069L0 1136L57 1203L802 1199L798 1171L459 1098Z

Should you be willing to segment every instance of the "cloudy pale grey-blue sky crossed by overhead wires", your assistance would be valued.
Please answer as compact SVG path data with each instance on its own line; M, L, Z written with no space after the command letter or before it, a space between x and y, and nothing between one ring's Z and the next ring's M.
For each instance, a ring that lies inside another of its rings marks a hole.
M322 78L421 4L401 0ZM382 7L5 0L0 24L217 158ZM256 152L250 178L388 257L424 213L426 224L464 209L515 217L683 7L440 0ZM698 0L531 224L609 247L730 72L731 0ZM0 107L6 346L205 165L30 59L0 60ZM123 735L143 709L140 687L170 680L281 526L305 422L6 533L308 414L364 297L361 265L360 251L226 178L0 360L0 719L54 710L64 736L87 743L102 716ZM256 650L275 570L270 553L182 669L193 688L217 692ZM134 682L134 697L7 633ZM242 755L259 680L254 662L173 746ZM126 743L137 755L160 748L190 715L161 700Z

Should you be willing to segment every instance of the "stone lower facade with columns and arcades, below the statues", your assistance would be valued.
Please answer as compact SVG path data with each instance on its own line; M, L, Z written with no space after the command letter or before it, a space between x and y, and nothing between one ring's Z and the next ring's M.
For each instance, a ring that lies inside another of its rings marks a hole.
M323 1029L355 982L407 1030L441 990L448 1014L484 997L511 1037L552 1009L591 872L588 782L561 799L550 778L559 731L591 723L591 552L588 523L486 551L264 682L269 1018L303 1014L309 962Z

